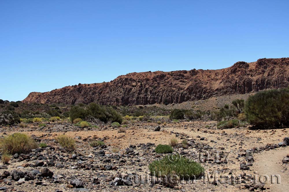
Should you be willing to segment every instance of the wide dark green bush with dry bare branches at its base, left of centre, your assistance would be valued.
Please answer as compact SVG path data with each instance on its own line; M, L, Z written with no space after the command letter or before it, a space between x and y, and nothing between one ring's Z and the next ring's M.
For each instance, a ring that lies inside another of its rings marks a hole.
M69 117L72 122L74 119L77 118L85 119L89 115L105 123L108 121L115 121L121 123L123 121L121 115L117 113L114 109L110 107L104 107L96 103L90 103L88 105L79 104L71 107L69 111Z

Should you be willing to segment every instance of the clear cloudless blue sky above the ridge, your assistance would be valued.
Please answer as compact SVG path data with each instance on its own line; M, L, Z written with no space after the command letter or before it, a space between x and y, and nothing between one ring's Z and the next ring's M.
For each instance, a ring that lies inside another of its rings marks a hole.
M0 99L289 56L288 1L1 0Z

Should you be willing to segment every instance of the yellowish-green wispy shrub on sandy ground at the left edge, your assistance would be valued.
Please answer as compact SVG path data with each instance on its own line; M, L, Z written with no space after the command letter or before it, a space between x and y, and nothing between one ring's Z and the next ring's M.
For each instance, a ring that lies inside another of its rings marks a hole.
M14 133L0 140L2 153L28 153L31 149L36 149L37 147L37 143L31 137L22 133Z

